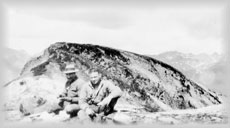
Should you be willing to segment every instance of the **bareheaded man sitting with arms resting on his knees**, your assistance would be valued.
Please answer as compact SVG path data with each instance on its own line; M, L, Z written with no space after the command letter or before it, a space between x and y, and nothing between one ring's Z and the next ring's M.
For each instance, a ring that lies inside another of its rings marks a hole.
M80 119L90 117L94 119L97 115L108 115L114 111L114 106L122 91L111 81L102 80L102 74L97 69L91 69L90 81L82 86L78 113Z

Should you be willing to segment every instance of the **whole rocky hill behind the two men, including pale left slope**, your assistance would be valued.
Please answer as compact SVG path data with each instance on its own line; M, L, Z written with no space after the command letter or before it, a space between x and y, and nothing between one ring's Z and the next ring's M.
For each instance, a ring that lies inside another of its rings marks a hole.
M88 80L89 69L97 67L104 79L119 86L124 92L120 108L128 104L156 112L222 103L214 92L154 58L98 45L58 42L28 61L20 78L5 87L5 109L12 112L8 116L52 109L64 88L64 67L70 62L76 64L83 81Z

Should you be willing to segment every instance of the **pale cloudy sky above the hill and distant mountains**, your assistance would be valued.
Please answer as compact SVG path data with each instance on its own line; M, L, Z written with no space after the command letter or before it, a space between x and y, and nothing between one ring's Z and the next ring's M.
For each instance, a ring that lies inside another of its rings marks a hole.
M8 3L6 46L30 55L55 42L109 46L139 54L223 53L221 4Z

